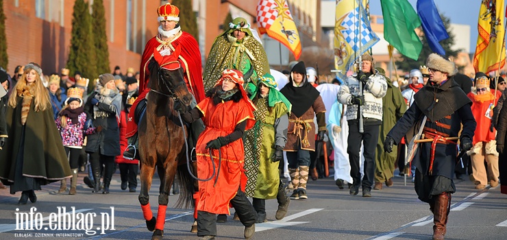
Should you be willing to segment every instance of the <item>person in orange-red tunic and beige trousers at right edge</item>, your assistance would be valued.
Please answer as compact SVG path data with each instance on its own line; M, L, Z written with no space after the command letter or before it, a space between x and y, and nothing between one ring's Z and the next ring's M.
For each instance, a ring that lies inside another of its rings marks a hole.
M487 184L498 186L498 152L495 136L497 130L491 127L493 106L497 105L502 96L500 91L489 88L490 80L484 73L475 74L475 86L471 88L468 97L472 100L472 113L477 121L477 128L473 134L473 147L467 152L471 157L472 176L475 189L485 189ZM495 96L496 95L496 96ZM486 161L487 171L484 167Z

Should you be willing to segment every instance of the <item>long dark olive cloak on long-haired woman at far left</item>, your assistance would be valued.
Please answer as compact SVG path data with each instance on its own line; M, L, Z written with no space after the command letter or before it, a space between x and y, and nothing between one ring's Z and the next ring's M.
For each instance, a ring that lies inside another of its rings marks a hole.
M2 100L3 101L3 100ZM5 119L9 139L0 151L0 178L4 184L14 182L14 167L18 151L23 151L23 176L38 178L40 184L48 184L64 178L71 178L71 167L62 144L60 132L56 129L53 109L35 111L32 99L27 121L25 138L21 139L21 105L18 97L16 108L7 108ZM22 141L25 148L19 149Z

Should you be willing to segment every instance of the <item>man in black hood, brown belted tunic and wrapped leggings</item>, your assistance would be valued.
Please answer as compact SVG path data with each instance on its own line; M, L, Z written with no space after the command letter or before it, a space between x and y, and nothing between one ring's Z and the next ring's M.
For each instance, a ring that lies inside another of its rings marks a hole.
M288 116L287 152L288 171L294 187L290 199L306 200L306 182L310 171L310 151L315 151L315 124L319 125L317 141L323 141L327 130L325 105L322 97L306 78L304 62L298 62L290 71L288 84L280 92L290 101L292 109Z

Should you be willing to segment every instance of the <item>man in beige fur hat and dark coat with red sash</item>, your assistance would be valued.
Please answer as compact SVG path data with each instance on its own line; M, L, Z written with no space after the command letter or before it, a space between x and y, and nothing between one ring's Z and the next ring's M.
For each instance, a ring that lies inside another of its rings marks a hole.
M426 66L430 71L430 83L415 94L412 106L387 134L384 150L392 152L393 145L404 135L424 125L424 138L432 142L420 143L414 155L415 191L419 200L430 204L434 215L433 239L444 239L451 193L456 191L453 177L458 155L456 141L447 138L458 136L462 123L460 151L466 152L473 146L477 123L470 99L454 81L457 72L454 62L432 53Z

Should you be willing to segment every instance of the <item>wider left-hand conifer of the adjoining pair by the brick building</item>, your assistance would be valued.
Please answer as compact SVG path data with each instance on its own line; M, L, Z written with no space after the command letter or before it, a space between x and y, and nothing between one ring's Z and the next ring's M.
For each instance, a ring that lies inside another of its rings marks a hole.
M96 57L88 3L76 0L72 14L71 49L67 69L71 74L81 71L83 77L97 77Z

